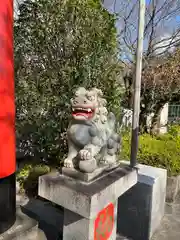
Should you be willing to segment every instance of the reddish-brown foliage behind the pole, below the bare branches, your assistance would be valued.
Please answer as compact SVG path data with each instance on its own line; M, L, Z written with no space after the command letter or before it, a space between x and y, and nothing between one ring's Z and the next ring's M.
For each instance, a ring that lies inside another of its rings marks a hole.
M142 71L141 84L141 131L147 131L147 117L152 117L151 130L154 132L159 122L159 115L167 102L180 99L180 49L161 57L152 59ZM125 77L126 103L132 106L132 72Z

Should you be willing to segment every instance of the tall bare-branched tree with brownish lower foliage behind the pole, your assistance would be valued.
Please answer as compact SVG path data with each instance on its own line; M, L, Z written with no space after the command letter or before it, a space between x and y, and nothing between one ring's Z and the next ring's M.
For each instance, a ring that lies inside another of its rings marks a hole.
M119 41L123 51L121 61L127 69L124 77L124 106L128 108L132 108L133 99L138 6L138 0L114 1L113 11L118 15ZM175 76L179 74L178 66L172 60L174 57L178 59L179 54L178 50L173 57L174 51L180 45L179 16L179 0L146 1L140 114L140 125L145 130L149 114L154 114L153 126L156 125L162 105L172 98L179 98L179 86L174 85L178 81Z

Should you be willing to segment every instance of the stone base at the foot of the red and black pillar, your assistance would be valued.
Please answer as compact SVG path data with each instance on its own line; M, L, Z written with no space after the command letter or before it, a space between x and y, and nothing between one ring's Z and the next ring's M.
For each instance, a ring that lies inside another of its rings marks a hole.
M15 224L0 235L0 240L37 240L37 228L37 222L23 214L18 207Z

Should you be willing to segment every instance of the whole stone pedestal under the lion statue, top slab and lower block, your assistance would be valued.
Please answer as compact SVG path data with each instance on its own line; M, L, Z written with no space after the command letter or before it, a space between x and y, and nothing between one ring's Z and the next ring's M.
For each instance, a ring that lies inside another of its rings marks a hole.
M52 173L39 178L39 195L64 207L63 240L115 240L118 197L136 183L128 165L88 184Z

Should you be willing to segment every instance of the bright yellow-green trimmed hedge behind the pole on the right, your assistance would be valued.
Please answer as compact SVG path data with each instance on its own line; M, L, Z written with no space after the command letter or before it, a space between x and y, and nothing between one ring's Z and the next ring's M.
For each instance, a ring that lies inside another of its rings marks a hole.
M130 158L130 133L123 134L121 159ZM140 163L166 168L169 176L180 174L180 126L169 127L164 135L139 136L137 159Z

